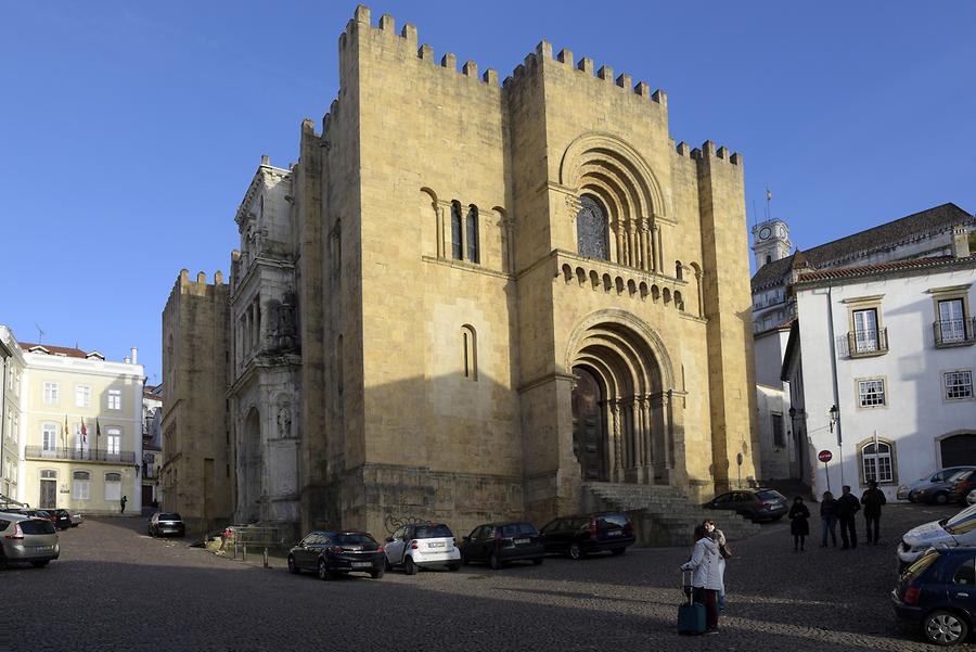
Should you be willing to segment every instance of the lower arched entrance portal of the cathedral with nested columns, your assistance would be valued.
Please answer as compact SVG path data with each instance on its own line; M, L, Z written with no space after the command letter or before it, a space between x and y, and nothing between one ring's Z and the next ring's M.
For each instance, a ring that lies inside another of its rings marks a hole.
M672 373L660 341L635 317L591 316L570 338L574 450L587 481L667 483L676 451Z

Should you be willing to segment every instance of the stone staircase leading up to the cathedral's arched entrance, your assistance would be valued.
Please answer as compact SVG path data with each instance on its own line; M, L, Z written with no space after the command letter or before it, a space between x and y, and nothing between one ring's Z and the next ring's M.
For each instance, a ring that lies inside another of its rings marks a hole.
M759 525L727 510L706 510L668 485L586 483L583 506L622 511L633 522L638 546L691 546L695 526L714 520L730 541L750 537Z

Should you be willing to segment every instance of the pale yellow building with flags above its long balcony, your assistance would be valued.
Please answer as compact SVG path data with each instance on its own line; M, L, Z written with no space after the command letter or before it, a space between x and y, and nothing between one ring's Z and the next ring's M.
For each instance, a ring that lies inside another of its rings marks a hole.
M142 482L142 389L136 349L124 362L99 351L21 343L21 482L37 508L138 514Z

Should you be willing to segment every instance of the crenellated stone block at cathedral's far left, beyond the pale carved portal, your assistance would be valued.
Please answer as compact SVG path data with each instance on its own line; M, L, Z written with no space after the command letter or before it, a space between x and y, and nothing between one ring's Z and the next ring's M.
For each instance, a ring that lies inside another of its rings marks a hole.
M163 509L202 532L230 521L228 286L183 269L163 310Z

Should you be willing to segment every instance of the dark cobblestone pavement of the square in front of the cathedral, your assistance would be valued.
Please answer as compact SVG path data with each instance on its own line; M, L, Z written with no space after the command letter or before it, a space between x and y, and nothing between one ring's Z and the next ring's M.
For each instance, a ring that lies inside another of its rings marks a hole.
M883 545L849 551L813 537L794 553L785 522L763 525L733 545L721 632L694 638L676 634L691 546L326 583L91 519L60 561L0 574L0 650L930 650L891 617L894 548L958 509L889 507Z

